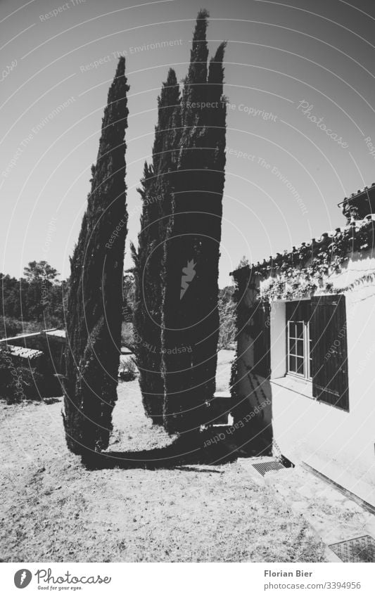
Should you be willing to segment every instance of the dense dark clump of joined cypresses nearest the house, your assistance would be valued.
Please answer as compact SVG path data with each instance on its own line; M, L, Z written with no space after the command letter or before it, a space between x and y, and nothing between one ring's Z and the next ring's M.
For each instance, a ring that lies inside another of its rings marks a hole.
M215 392L218 262L225 165L225 44L208 65L207 11L193 35L182 98L170 70L158 98L134 253L134 347L144 409L168 432L199 428ZM189 286L189 283L191 285Z

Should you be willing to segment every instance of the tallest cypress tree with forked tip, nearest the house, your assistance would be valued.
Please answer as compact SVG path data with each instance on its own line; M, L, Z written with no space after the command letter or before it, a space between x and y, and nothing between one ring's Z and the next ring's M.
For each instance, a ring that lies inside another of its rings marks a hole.
M198 13L184 82L174 213L165 243L162 351L164 424L169 432L191 432L208 422L207 406L215 392L225 44L220 45L208 68L207 18L207 11Z

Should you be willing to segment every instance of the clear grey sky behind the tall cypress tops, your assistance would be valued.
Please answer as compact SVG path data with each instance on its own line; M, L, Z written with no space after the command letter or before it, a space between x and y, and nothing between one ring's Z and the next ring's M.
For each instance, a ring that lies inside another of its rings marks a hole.
M220 285L243 255L258 262L344 224L337 203L375 181L373 0L1 0L0 271L46 259L69 275L116 53L136 241L156 98L170 66L186 74L202 6L211 51L228 40ZM150 47L163 41L174 45Z

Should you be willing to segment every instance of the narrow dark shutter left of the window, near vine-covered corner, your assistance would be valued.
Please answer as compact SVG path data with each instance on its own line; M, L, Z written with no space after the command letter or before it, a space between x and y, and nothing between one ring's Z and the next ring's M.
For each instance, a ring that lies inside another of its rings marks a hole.
M269 378L271 374L270 305L260 301L254 312L254 373Z

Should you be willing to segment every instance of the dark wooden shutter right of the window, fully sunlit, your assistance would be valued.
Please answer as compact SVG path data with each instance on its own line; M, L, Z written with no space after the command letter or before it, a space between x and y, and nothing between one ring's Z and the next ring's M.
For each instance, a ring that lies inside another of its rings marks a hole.
M312 395L349 410L345 296L312 298Z

